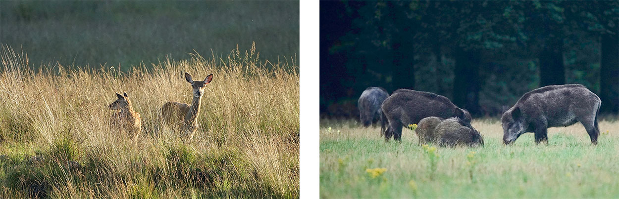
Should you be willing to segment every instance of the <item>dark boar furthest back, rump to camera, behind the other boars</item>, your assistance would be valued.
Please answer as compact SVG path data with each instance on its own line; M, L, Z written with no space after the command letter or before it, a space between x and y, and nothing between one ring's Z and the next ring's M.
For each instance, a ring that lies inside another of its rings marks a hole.
M357 106L359 106L359 117L364 127L369 127L374 119L381 121L381 135L385 131L387 120L383 117L381 104L389 97L387 90L381 87L368 87L361 93Z

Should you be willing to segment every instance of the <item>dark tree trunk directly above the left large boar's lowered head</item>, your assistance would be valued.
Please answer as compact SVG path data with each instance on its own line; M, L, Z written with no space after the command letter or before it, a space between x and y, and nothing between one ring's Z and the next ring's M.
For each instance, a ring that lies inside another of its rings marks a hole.
M470 114L478 116L479 107L479 65L481 59L478 51L456 50L456 67L454 69L453 103L467 109Z

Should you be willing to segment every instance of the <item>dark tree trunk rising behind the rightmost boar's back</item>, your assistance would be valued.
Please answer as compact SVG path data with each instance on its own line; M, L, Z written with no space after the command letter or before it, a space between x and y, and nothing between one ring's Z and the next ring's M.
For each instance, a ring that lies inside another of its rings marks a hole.
M540 87L565 84L563 40L548 38L540 53Z

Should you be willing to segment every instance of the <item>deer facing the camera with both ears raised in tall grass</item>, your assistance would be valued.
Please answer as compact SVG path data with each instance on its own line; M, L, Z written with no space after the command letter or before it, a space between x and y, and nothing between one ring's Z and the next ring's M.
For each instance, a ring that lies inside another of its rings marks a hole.
M178 124L183 136L189 135L190 138L193 138L199 126L197 117L200 113L200 101L204 95L204 88L213 80L213 74L206 76L204 81L194 81L191 75L185 72L185 80L191 83L191 88L193 88L191 104L168 101L163 104L161 112L167 124Z

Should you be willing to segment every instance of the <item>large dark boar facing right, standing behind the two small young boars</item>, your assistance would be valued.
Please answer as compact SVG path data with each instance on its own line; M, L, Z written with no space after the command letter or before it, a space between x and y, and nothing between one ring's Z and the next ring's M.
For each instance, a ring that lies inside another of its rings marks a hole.
M402 140L402 126L417 124L425 117L460 117L470 124L469 111L457 108L448 98L434 93L398 89L383 102L383 114L389 125L385 141L393 136L394 140Z

